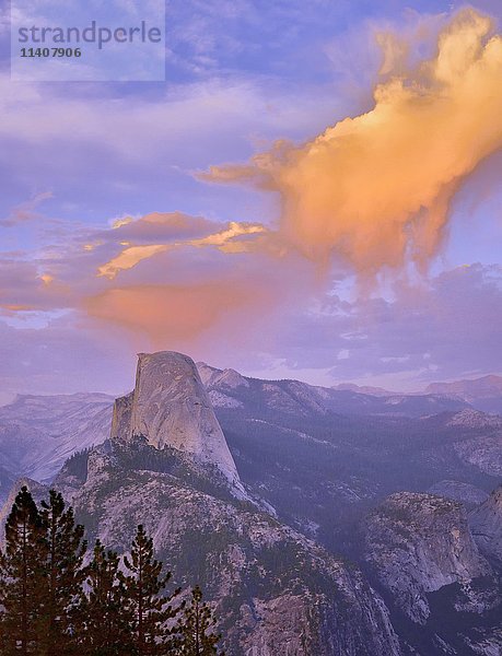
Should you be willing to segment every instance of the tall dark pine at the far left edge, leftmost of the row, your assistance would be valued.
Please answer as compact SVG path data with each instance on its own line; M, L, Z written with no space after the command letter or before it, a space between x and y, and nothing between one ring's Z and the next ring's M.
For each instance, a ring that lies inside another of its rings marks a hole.
M5 524L5 548L0 552L2 656L39 654L47 544L33 496L23 487Z

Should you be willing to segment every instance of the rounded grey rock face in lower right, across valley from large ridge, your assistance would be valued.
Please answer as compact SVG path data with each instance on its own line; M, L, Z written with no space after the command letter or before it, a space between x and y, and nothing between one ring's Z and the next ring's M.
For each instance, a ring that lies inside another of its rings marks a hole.
M398 492L370 514L365 560L415 622L430 614L427 593L491 575L463 506L432 494Z

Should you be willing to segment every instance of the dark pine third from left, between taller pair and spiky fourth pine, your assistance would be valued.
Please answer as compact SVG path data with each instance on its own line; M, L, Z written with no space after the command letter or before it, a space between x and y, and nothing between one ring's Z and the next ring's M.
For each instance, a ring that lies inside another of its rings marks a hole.
M85 655L126 656L133 654L131 618L125 604L124 585L118 577L120 559L96 540L93 559L86 567L86 594L80 608L79 644Z

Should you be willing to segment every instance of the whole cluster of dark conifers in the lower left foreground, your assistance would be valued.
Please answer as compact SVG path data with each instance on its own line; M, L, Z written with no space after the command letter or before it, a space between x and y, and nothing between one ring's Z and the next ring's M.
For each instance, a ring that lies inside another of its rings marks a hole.
M1 656L218 654L220 636L200 588L188 607L173 604L180 588L165 595L171 573L162 573L142 525L124 557L126 572L100 540L84 567L83 534L59 492L51 490L39 511L21 489L0 551Z

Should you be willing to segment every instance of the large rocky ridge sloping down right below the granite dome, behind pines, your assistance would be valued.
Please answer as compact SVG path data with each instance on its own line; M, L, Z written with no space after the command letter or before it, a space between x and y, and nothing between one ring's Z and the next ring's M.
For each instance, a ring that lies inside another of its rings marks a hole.
M354 565L180 467L145 470L142 453L96 449L77 517L119 552L143 524L176 585L203 587L229 655L401 654L385 604Z

